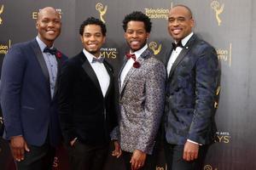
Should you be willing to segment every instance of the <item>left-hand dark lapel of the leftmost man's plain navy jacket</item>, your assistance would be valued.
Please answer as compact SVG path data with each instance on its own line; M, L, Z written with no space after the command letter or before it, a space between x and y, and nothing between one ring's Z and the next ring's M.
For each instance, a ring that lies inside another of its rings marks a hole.
M32 49L33 49L34 53L36 54L38 63L41 67L41 70L43 71L47 86L49 87L49 72L48 72L47 66L44 61L44 56L42 54L41 49L39 48L39 45L38 45L38 42L36 41L36 39L32 41Z

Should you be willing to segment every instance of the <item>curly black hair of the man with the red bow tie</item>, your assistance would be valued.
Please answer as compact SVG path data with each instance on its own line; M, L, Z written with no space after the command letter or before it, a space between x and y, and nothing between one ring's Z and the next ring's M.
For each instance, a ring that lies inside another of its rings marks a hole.
M150 33L152 23L146 14L143 14L141 11L134 11L131 14L127 14L123 20L123 28L125 31L127 30L128 22L131 20L142 21L144 23L145 30Z

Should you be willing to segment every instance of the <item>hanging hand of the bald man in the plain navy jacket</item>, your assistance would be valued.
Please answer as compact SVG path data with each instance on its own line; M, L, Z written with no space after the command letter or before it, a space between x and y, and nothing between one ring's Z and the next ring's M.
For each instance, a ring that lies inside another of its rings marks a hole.
M14 136L10 139L10 149L12 151L12 155L15 158L15 161L24 160L25 150L29 151L27 147L26 141L23 136Z

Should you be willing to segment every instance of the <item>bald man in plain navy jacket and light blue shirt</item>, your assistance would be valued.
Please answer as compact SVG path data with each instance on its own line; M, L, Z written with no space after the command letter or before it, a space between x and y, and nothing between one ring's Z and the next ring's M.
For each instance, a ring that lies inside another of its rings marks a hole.
M51 169L61 130L57 115L56 83L61 63L67 59L53 47L61 33L55 8L39 11L38 36L13 45L3 59L0 97L3 138L17 169Z

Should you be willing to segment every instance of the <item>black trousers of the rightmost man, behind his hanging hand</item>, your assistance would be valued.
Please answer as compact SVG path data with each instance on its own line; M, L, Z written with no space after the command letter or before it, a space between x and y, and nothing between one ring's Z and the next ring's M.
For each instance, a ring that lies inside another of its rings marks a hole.
M208 145L199 146L198 158L195 161L183 160L184 145L167 144L164 142L168 170L203 170Z

